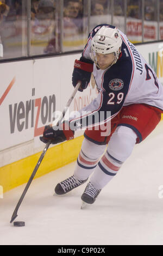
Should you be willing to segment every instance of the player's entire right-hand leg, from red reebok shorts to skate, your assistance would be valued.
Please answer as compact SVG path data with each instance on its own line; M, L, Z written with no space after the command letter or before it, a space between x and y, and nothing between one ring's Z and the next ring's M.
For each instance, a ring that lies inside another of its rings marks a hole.
M155 129L160 119L161 113L148 105L134 104L122 109L118 127L110 138L108 149L82 195L84 202L95 202L102 188L130 156L135 143L143 141Z

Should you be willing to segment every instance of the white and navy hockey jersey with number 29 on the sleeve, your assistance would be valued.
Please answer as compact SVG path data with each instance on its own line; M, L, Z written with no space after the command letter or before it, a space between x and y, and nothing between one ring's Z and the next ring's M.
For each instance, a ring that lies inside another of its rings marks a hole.
M91 59L91 40L102 26L114 26L101 24L96 26L89 34L87 44L82 56ZM96 81L99 94L89 106L80 110L80 118L73 118L71 123L76 129L89 127L87 118L100 112L110 112L103 115L103 120L92 119L93 124L106 122L115 117L123 106L133 103L145 103L156 107L163 113L163 86L156 77L154 70L131 44L127 36L119 31L122 38L121 56L111 68L101 70L93 64L93 76ZM83 114L86 111L87 114ZM77 123L77 125L74 125Z

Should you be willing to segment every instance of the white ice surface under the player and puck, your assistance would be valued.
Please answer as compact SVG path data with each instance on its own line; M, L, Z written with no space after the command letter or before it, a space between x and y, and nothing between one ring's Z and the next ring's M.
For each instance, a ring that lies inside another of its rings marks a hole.
M73 174L74 164L33 180L15 220L25 221L25 227L10 224L24 185L4 193L0 245L163 245L163 198L158 196L163 185L163 121L135 145L95 204L82 210L86 184L53 196L55 185Z

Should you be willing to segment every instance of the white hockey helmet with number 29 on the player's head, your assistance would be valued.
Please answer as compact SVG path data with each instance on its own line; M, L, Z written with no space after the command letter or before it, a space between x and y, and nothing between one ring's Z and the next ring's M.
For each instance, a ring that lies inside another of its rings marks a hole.
M117 28L110 28L109 26L101 27L95 36L92 38L91 42L91 53L90 56L98 66L96 60L96 53L109 54L114 53L114 62L108 67L110 68L118 60L119 54L121 53L122 39L121 34L118 32ZM99 67L99 66L98 66Z

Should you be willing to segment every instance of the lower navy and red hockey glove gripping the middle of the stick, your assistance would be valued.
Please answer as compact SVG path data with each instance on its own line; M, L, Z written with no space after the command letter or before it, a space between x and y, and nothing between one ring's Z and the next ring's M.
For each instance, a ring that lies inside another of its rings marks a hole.
M62 130L58 129L55 131L55 126L45 126L43 136L40 137L40 141L42 141L43 143L51 141L52 144L57 144L63 141L70 141L70 139L74 138L74 131L70 129L68 122L62 123L61 129Z

